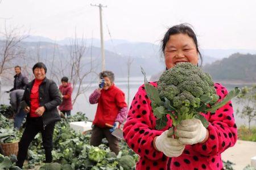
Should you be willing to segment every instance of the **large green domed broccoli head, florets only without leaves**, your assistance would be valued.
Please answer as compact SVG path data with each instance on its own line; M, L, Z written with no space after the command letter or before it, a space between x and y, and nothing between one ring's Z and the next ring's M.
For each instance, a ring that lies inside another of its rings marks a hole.
M158 92L160 99L164 101L166 97L179 113L191 113L199 108L202 95L209 96L210 105L218 100L212 77L189 62L164 71L158 81Z

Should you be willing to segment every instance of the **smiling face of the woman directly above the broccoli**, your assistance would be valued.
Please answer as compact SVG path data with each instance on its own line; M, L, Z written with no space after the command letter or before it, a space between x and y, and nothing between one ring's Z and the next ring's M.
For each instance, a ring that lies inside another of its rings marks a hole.
M191 37L184 33L171 35L164 48L164 61L167 69L179 62L191 62L197 65L199 60L196 44Z

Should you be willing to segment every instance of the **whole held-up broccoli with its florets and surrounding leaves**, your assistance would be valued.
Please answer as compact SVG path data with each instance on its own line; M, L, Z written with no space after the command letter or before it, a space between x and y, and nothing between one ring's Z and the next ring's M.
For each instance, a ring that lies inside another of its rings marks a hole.
M158 81L158 88L149 84L144 74L145 90L152 103L156 120L156 129L166 126L169 114L176 126L181 120L198 118L205 127L209 122L200 112L214 112L225 105L240 92L238 87L230 91L220 102L216 94L212 77L200 67L189 62L178 63L172 69L164 71Z

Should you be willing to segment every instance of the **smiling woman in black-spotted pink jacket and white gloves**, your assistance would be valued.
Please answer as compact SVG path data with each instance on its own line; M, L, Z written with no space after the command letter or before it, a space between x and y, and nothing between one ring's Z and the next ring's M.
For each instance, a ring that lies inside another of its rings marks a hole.
M185 24L168 29L162 40L162 52L166 69L179 62L198 65L201 58L196 35ZM157 86L157 82L151 84ZM215 83L214 87L220 99L228 94L221 84ZM140 156L136 169L222 169L221 152L237 140L232 103L202 115L209 121L208 128L200 120L184 120L176 126L179 139L167 137L171 118L167 116L166 127L156 130L151 101L144 85L139 87L123 128L127 144Z

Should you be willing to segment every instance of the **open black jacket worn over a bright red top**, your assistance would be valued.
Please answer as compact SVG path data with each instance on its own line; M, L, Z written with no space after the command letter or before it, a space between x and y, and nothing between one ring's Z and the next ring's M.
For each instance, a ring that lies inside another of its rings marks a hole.
M32 80L32 82L28 83L23 99L26 101L28 106L30 107L30 92L34 85L35 80ZM46 108L46 111L43 113L43 124L44 127L46 127L51 122L60 121L60 115L57 111L57 106L60 105L62 102L62 99L60 97L59 89L53 80L45 78L43 82L39 86L39 105ZM27 116L28 118L29 116Z

